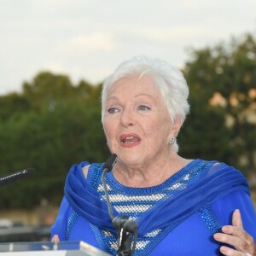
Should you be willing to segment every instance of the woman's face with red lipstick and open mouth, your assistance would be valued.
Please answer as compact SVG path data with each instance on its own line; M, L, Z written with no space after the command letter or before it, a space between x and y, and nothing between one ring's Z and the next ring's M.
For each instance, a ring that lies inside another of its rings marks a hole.
M177 134L150 76L119 79L111 87L103 119L108 147L128 166L163 160Z

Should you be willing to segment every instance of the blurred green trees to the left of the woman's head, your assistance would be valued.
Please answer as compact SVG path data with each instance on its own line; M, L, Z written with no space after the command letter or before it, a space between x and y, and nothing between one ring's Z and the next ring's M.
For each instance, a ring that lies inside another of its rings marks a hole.
M20 96L20 102L29 102L30 108L0 113L1 175L26 167L37 170L32 177L2 188L2 209L33 207L43 198L59 203L74 163L108 157L98 90L84 84L73 86L66 77L40 73L32 84L26 83ZM0 104L12 106L12 102L11 96L0 99Z

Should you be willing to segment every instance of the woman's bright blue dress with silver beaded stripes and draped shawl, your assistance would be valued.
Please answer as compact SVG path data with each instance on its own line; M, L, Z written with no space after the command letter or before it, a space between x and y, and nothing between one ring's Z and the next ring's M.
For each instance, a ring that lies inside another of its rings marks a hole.
M102 164L91 164L85 178L82 168L88 164L75 165L68 173L52 236L86 241L115 255L117 239L102 189ZM193 160L150 188L125 187L112 172L106 181L114 215L137 220L135 255L219 255L212 234L231 224L236 209L244 229L256 240L256 215L246 179L224 163Z

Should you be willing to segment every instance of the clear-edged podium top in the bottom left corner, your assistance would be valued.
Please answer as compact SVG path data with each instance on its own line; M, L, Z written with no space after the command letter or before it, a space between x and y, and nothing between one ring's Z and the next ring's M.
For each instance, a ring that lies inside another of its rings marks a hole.
M84 241L0 243L1 256L109 256Z

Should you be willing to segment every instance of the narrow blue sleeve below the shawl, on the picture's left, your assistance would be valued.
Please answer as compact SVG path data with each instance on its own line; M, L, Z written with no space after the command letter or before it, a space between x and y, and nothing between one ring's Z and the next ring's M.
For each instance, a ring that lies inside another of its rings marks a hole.
M61 206L55 219L55 223L51 227L51 236L58 235L61 241L65 241L66 229L67 229L67 218L71 207L69 206L65 197L61 201Z

